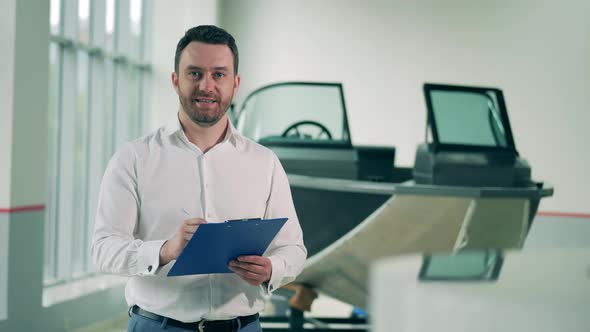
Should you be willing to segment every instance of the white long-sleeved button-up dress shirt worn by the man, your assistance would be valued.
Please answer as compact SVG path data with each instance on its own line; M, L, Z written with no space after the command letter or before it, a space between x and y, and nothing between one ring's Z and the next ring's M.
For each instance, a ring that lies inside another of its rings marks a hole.
M165 240L179 225L287 217L264 256L272 262L265 286L236 274L167 277L158 268ZM183 322L230 319L264 308L264 296L291 282L307 251L285 171L275 154L237 133L207 153L190 143L178 118L127 143L110 160L99 195L92 258L105 273L128 276L127 304Z

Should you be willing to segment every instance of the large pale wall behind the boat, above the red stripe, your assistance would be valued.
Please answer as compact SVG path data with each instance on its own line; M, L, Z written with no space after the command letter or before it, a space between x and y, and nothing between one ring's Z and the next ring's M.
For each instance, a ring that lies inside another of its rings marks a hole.
M355 145L412 165L426 81L503 89L517 149L556 188L542 210L590 212L590 2L222 0L242 88L343 82Z

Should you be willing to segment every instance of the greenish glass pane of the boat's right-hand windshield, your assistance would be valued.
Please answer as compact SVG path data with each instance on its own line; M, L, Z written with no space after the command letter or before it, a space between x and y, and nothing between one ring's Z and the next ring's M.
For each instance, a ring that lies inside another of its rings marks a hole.
M431 90L438 143L506 148L506 128L495 91Z

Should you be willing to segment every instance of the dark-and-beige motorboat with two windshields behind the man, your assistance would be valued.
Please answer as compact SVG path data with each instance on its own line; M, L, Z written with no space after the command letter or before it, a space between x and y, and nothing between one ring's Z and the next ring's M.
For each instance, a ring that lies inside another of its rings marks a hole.
M366 308L370 264L392 255L522 247L539 201L502 91L427 83L413 167L395 146L354 146L340 83L261 87L232 115L289 178L308 261L297 282Z

